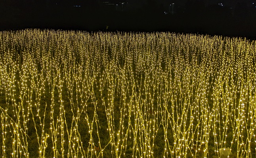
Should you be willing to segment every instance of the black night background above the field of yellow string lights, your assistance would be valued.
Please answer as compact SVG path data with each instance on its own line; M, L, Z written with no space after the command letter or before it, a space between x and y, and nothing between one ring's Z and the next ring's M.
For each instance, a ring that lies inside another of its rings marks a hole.
M256 37L256 0L0 2L0 30L53 28L106 31L106 26L109 26L107 31L198 32Z

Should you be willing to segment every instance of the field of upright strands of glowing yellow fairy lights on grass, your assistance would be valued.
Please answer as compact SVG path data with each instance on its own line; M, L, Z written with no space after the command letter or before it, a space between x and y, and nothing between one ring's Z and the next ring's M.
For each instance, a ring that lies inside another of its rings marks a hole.
M256 41L0 32L3 158L255 158Z

